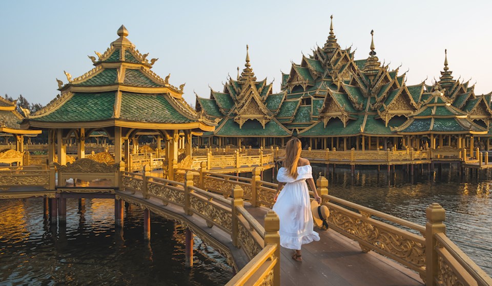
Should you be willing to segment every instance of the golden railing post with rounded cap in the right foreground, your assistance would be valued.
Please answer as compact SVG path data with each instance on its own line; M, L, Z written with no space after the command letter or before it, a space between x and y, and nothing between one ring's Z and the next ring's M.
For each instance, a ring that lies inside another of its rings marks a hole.
M436 251L437 239L435 234L446 233L446 226L443 224L445 210L438 203L433 203L425 210L427 223L425 224L425 285L437 285L438 277L438 255Z

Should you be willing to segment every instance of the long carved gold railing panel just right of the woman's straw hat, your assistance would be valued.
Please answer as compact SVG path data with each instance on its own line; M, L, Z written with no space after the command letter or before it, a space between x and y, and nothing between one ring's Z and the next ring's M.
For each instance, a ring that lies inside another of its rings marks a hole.
M425 245L399 233L379 228L376 225L349 214L330 209L328 224L345 231L389 254L395 255L416 267L425 266Z

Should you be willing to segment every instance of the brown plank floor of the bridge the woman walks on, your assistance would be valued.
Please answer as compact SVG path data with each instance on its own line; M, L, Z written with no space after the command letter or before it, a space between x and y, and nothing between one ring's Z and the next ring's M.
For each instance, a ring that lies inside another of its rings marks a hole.
M267 208L248 211L263 224ZM292 259L290 249L281 249L280 279L290 285L423 285L420 276L377 253L364 253L358 243L333 231L320 231L321 240L302 247L302 262Z

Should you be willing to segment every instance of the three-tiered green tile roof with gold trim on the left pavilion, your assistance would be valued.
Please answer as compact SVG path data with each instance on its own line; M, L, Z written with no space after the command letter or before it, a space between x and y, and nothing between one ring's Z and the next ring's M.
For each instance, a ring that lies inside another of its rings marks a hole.
M144 129L196 129L211 131L215 123L198 115L182 98L183 87L152 72L157 59L147 59L127 38L121 26L118 39L98 58L94 68L58 81L61 95L24 121L30 127L106 127Z

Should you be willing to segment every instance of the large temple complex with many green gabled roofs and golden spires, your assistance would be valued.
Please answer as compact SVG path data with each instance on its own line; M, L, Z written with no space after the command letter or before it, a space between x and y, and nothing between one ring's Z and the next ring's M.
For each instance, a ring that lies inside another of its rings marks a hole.
M200 143L282 146L297 136L313 149L473 148L474 136L490 136L490 94L476 96L474 86L454 79L447 52L439 81L406 85L406 73L379 61L373 31L369 57L357 60L338 45L331 18L324 46L282 73L280 93L256 81L247 55L246 68L222 93L197 96L197 110L221 120Z

